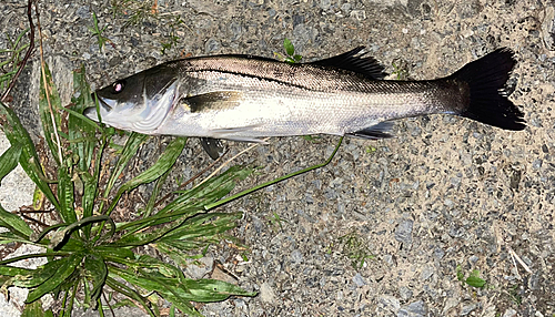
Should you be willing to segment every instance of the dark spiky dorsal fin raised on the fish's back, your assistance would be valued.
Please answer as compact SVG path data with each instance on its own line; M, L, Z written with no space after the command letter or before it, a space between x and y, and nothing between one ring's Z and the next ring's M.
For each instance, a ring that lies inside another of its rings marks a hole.
M373 80L381 80L386 76L387 74L383 71L384 67L379 64L374 58L364 57L366 52L362 52L363 50L364 47L359 47L346 53L311 62L310 64L347 70Z

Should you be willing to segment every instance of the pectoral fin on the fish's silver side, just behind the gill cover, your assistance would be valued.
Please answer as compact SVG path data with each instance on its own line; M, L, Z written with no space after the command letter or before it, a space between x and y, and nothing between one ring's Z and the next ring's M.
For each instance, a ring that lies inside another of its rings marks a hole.
M240 91L214 91L188 96L184 99L184 102L191 108L191 112L194 113L233 109L238 106L242 100L243 93Z

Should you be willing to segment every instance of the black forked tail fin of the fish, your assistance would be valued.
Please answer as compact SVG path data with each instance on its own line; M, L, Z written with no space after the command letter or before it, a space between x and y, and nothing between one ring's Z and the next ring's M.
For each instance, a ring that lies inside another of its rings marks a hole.
M524 114L505 91L515 63L512 50L498 49L452 74L450 78L470 88L470 106L461 115L505 130L523 130Z

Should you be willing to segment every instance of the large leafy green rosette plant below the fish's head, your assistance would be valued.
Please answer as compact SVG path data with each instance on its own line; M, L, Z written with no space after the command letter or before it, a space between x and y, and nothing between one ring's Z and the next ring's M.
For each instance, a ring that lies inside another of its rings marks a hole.
M110 298L115 293L123 295L129 298L123 303L141 306L150 316L160 315L159 299L170 301L173 310L200 316L191 301L255 295L220 280L186 278L179 268L192 258L188 252L205 249L235 226L241 213L208 213L204 205L226 195L252 168L230 167L194 190L180 191L175 200L155 213L152 202L157 201L158 192L154 191L147 204L148 215L117 219L112 216L115 206L129 200L123 194L147 183L158 182L155 186L163 183L186 139L172 140L152 166L118 186L117 181L148 136L132 133L117 163L111 168L104 166L102 162L111 161L108 157L113 130L102 129L81 114L93 104L83 69L74 73L74 88L79 93L72 105L63 109L44 65L39 110L46 144L57 166L53 173L44 174L28 132L13 111L0 103L0 123L11 143L0 156L0 178L19 163L59 219L37 233L21 217L0 206L0 226L9 229L0 234L0 244L22 243L44 248L42 253L1 260L1 289L29 288L26 311L39 309L38 299L53 294L61 299L63 316L71 314L78 298L81 298L79 305L98 308L103 316L102 294L109 294ZM109 176L101 176L109 170L112 171ZM137 247L144 245L171 257L175 265L138 253ZM47 258L48 263L37 269L10 265L38 257ZM32 316L41 315L34 313Z

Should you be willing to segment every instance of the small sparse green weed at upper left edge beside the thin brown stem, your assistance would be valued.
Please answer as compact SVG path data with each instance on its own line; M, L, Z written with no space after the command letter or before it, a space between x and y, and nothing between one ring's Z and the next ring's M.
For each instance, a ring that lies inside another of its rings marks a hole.
M18 72L21 52L29 47L29 43L22 43L22 39L28 32L29 29L23 30L16 40L6 33L8 49L0 50L0 95L8 89L13 75Z

